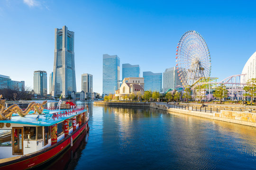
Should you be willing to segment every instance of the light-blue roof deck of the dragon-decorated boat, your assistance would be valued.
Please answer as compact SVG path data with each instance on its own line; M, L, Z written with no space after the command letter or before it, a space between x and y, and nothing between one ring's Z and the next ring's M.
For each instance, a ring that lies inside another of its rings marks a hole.
M72 109L68 109L72 110ZM68 110L60 110L62 113ZM51 126L56 123L62 122L65 119L70 119L76 115L79 115L80 113L84 112L86 110L80 110L74 113L70 113L69 115L62 115L61 117L58 116L58 119L53 119L51 116L53 113L59 112L59 110L50 110L48 114L27 114L25 117L20 116L12 116L10 120L0 120L0 123L17 123L17 124L23 124L23 125L35 125L35 126ZM47 116L48 115L48 116ZM37 117L39 116L39 120L37 120ZM51 117L49 119L49 116ZM48 117L48 118L47 118Z

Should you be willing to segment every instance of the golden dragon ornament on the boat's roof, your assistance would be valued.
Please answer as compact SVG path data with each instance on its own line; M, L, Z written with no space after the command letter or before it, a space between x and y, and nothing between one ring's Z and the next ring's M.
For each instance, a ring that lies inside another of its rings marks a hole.
M36 112L38 114L42 114L42 112L44 110L43 105L47 103L47 101L44 101L42 103L31 102L28 105L26 110L22 110L22 109L20 109L18 104L13 104L13 105L9 106L8 108L6 108L5 100L1 99L1 98L2 98L2 94L0 95L0 120L11 119L11 116L13 113L17 113L19 116L24 117L31 110L35 110L34 114L36 114Z

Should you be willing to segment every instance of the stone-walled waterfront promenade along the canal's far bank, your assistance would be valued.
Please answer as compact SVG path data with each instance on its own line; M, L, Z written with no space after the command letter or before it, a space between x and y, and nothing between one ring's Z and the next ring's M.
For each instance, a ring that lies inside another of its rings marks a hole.
M255 106L230 106L212 104L207 107L202 107L202 104L197 103L166 103L166 102L94 102L94 105L105 106L130 106L130 107L151 107L168 112L176 112L197 116L207 119L215 119L229 123L236 123L256 127L256 107Z

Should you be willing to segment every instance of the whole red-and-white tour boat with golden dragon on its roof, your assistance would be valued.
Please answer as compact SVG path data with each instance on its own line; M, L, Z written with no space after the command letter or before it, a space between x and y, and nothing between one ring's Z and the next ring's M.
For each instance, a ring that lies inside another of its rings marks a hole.
M45 103L33 102L21 112L18 105L1 108L3 101L0 99L0 170L25 170L57 159L58 154L72 147L73 141L89 130L88 106L85 110L68 101L71 109L59 106L58 110L55 107L46 110ZM10 110L11 115L19 116L9 116Z

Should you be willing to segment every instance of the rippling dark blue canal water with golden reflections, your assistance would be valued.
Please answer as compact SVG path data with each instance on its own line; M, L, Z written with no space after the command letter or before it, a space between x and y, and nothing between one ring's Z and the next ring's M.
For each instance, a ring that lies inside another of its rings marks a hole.
M164 110L88 104L89 134L45 169L256 169L255 127Z

